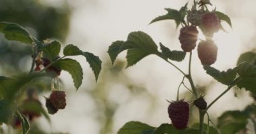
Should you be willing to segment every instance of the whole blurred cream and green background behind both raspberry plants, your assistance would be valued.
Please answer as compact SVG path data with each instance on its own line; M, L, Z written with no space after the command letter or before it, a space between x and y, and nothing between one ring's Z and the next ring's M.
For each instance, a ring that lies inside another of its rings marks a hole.
M192 2L189 1L189 8ZM51 123L43 117L35 119L30 133L110 134L117 133L128 121L141 121L155 127L170 123L166 99L176 99L183 75L156 56L148 56L125 69L125 52L119 55L112 67L106 52L112 42L126 40L131 31L144 31L156 44L162 42L171 50L181 50L179 28L176 29L174 21L149 23L158 15L166 14L164 8L180 9L185 3L185 0L0 0L0 21L19 23L40 41L51 38L64 45L77 45L102 60L102 72L96 83L85 59L75 57L84 70L82 87L75 91L71 76L62 72L61 87L67 92L67 107L50 115ZM236 66L240 54L255 48L256 1L212 0L212 3L217 11L226 13L232 21L232 28L223 23L227 33L220 31L214 36L218 60L213 66L227 70ZM188 57L174 64L187 72ZM31 60L30 47L9 42L0 35L1 75L28 71ZM207 102L226 88L205 74L196 51L191 69L194 82L206 94ZM185 83L189 86L187 81ZM50 85L36 86L36 90L44 105L44 96L49 96ZM241 110L253 102L249 92L238 91L231 90L211 107L209 113L213 121L226 110ZM185 100L192 98L185 87L181 88L180 97ZM197 122L196 109L191 110L190 122ZM12 129L8 131L16 133Z

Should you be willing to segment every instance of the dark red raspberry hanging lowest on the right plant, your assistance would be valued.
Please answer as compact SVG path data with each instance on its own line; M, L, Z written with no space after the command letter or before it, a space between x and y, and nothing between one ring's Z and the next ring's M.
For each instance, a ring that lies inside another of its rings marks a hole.
M178 100L170 103L168 115L176 129L185 129L189 121L189 103Z

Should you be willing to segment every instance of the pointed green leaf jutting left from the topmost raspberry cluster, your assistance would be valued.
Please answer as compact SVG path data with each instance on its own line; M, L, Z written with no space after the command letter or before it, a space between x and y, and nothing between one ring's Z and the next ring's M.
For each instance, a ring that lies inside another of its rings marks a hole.
M162 21L162 20L166 20L166 19L173 19L173 20L179 21L179 22L181 21L181 15L178 10L169 9L169 8L166 8L165 10L168 11L168 13L166 15L158 16L155 19L153 19L150 23L154 23L156 21Z

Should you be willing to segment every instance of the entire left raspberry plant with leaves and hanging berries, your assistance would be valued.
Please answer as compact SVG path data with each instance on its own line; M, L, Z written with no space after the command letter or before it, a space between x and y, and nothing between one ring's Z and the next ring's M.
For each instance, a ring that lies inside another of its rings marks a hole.
M32 64L28 72L20 72L15 76L0 76L0 123L12 125L14 128L22 126L22 133L28 133L29 121L44 115L50 120L49 115L42 108L42 103L34 96L31 90L22 104L22 94L30 87L45 77L51 78L52 93L45 100L48 113L55 114L59 109L65 109L65 92L59 86L59 76L62 71L67 71L73 78L75 89L78 90L83 80L82 66L70 56L84 56L89 63L96 81L101 70L101 60L90 52L83 52L77 46L69 44L61 52L61 43L57 40L40 42L32 37L26 29L16 23L0 22L0 31L7 40L22 42L32 49ZM62 56L61 56L62 55Z

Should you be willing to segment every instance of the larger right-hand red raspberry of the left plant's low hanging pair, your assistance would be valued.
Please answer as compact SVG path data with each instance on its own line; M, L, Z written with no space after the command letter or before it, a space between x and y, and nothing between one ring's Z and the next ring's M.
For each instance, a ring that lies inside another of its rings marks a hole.
M65 109L67 103L65 99L65 92L61 90L55 90L50 95L51 103L53 103L53 106L57 109Z

